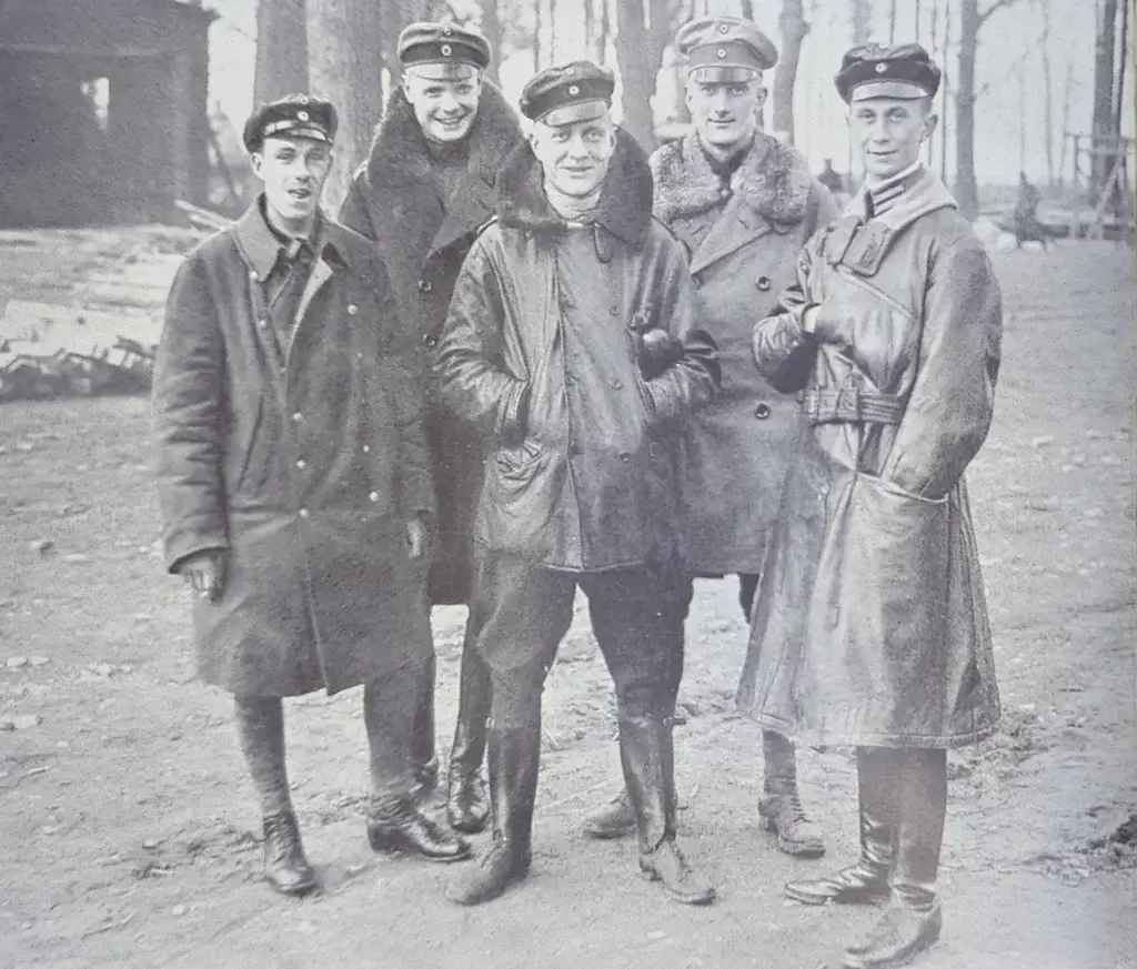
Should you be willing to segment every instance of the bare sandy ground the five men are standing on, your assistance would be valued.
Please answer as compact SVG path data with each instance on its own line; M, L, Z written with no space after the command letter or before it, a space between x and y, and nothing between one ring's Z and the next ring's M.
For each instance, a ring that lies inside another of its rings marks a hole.
M943 941L927 969L1137 964L1132 257L1111 244L996 256L1004 368L970 474L1004 720L953 754ZM373 855L358 691L290 703L294 801L324 893L259 880L259 817L225 695L193 680L188 600L164 577L138 399L0 407L0 967L805 967L872 913L783 903L855 854L855 775L804 751L829 857L756 824L761 738L733 712L745 626L700 585L677 733L691 910L639 879L630 843L579 835L615 788L612 691L578 617L546 690L533 875L443 899L454 867ZM460 609L438 610L439 732ZM483 838L479 838L479 844Z

